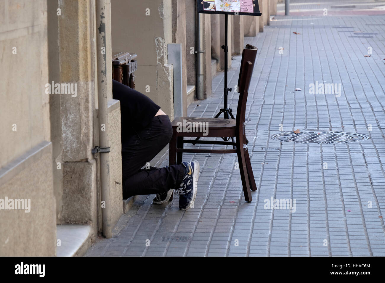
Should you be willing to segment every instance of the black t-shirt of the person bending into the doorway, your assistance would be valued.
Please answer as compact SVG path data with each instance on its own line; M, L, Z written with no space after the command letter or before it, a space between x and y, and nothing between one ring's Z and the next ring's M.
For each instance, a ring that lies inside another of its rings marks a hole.
M148 126L161 108L141 92L112 80L112 98L120 100L122 149L124 142Z

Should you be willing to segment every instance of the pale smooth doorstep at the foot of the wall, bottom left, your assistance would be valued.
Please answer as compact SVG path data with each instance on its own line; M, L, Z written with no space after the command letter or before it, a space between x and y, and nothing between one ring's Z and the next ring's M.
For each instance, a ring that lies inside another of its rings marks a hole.
M56 256L83 256L91 246L91 231L90 225L56 225Z

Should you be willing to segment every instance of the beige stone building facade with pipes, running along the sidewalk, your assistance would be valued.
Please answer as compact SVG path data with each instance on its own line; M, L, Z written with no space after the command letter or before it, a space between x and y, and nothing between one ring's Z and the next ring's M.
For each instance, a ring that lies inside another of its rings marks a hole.
M262 17L229 16L229 65L244 36L269 24L276 2L259 0ZM196 15L195 5L0 0L0 256L82 255L98 234L111 237L133 201L122 201L112 54L136 53L135 88L170 119L181 97L187 115L194 99L211 95L212 76L224 68L224 16ZM180 45L178 70L169 44Z

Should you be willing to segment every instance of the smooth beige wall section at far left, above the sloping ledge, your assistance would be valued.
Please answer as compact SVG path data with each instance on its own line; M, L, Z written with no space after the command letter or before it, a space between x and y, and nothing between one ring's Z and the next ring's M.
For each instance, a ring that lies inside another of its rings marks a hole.
M50 140L47 7L44 0L0 2L0 168ZM16 47L17 54L12 54ZM6 105L6 107L4 107ZM39 109L40 111L36 111ZM12 131L16 124L17 131Z

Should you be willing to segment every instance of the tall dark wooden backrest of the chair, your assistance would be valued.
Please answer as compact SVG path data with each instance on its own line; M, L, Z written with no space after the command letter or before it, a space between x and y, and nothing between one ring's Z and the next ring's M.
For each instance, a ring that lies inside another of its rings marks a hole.
M242 124L245 120L247 96L257 51L258 49L256 47L248 44L242 52L241 70L238 79L239 100L236 116L236 125L239 130L242 129Z

